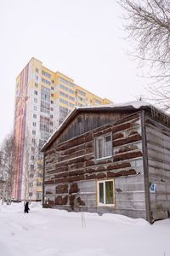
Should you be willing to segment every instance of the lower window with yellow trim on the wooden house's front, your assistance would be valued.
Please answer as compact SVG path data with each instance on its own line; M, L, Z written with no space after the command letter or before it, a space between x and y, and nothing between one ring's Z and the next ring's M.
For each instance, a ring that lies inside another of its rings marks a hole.
M114 179L97 181L97 206L115 207Z

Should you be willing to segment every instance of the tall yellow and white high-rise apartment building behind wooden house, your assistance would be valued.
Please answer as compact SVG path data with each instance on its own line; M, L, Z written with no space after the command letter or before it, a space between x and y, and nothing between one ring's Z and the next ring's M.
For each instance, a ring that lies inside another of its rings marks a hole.
M16 79L14 135L14 198L42 199L40 148L75 106L112 103L101 99L59 72L52 72L35 58Z

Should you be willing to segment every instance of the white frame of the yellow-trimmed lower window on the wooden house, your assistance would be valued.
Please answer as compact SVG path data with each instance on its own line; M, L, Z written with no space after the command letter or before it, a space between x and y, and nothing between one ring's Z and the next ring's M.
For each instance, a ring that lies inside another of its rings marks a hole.
M107 204L105 202L105 183L106 182L112 182L113 183L113 204ZM99 202L99 184L104 184L104 203ZM116 196L115 196L115 179L102 179L96 181L96 205L97 207L116 207Z

